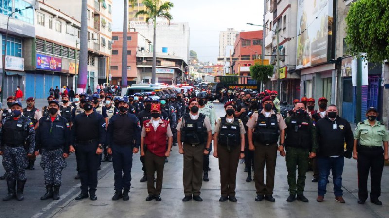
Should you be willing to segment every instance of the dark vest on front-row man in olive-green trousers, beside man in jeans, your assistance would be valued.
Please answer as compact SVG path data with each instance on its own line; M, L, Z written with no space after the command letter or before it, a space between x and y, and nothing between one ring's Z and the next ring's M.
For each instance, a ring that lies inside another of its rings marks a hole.
M286 125L285 145L287 147L310 148L312 144L312 121L308 115L302 119L298 119L296 116L292 115L290 123L286 123Z

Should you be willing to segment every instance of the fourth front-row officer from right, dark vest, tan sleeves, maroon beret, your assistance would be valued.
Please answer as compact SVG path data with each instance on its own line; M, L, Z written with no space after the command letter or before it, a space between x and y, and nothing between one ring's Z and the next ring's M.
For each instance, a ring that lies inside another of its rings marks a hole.
M280 114L272 110L274 104L270 96L262 100L262 111L254 113L248 120L248 149L254 151L254 181L257 189L255 201L264 198L270 202L273 198L274 173L276 168L277 151L283 151L286 124ZM253 133L254 130L254 133ZM277 145L280 136L280 147ZM264 169L266 163L266 186ZM265 197L264 197L265 196Z

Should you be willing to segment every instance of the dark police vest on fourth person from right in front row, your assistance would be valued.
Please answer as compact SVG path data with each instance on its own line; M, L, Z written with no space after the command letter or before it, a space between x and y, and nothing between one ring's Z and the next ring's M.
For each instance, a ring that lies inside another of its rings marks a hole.
M254 135L255 140L259 143L276 143L278 141L278 136L280 135L277 116L273 114L270 117L265 117L264 114L258 113Z

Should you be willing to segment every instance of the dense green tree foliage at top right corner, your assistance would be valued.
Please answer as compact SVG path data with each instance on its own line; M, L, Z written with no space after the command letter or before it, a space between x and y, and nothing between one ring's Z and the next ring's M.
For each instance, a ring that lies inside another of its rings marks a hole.
M369 62L389 59L389 0L359 0L346 17L350 54L366 53Z

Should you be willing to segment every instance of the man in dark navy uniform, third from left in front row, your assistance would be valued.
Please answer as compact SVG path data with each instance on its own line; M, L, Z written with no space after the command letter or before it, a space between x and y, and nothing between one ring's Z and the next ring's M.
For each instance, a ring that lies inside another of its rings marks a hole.
M94 201L97 200L97 168L106 140L105 121L101 114L94 112L92 97L86 96L82 104L85 111L73 119L69 151L77 153L76 158L81 179L81 194L75 199L88 198L90 195L90 200ZM73 145L76 145L76 150Z

